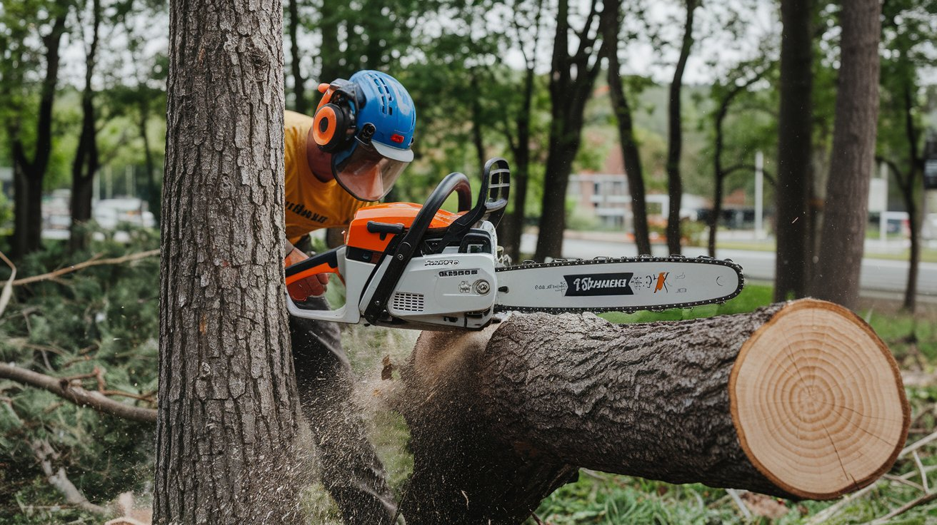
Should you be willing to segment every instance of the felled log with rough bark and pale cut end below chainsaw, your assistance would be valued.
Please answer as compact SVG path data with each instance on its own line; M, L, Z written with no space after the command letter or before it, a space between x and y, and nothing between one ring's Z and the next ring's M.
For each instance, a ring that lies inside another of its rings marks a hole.
M514 314L424 332L401 372L417 525L520 523L579 467L835 498L890 468L910 422L885 344L813 299L633 325Z

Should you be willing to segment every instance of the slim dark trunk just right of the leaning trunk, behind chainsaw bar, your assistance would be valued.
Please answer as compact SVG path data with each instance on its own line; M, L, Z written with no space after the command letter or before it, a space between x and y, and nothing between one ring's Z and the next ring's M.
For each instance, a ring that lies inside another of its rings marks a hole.
M674 80L670 82L670 105L667 112L667 194L670 202L667 213L667 250L671 254L680 253L680 206L683 199L683 182L680 180L680 153L683 149L680 93L683 91L683 69L687 66L693 45L693 13L698 5L698 0L686 0L687 22L683 27L683 43L674 69Z

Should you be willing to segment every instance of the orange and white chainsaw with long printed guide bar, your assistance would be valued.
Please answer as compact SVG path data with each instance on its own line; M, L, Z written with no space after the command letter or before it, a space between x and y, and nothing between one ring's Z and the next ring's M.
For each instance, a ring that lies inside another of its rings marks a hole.
M468 177L451 173L423 206L394 202L362 208L351 221L346 244L286 269L287 284L335 273L345 284L345 305L308 309L287 294L290 314L383 327L481 329L512 311L657 311L719 303L742 290L741 267L706 256L511 265L501 255L495 232L508 204L510 180L507 161L493 158L484 166L474 206ZM441 209L453 193L458 213Z

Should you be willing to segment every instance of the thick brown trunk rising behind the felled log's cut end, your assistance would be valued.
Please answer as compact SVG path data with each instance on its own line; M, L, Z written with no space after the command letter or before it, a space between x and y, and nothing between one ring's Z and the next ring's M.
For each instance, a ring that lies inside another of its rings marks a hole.
M878 0L842 6L841 66L836 124L823 220L823 242L811 295L855 308L869 214L878 119L882 22Z

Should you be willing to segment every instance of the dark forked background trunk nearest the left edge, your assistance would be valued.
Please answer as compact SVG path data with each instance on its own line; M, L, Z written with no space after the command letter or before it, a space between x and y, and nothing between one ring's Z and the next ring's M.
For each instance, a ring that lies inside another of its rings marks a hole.
M42 37L46 53L46 76L42 80L39 95L39 114L36 130L36 149L33 159L26 158L20 137L13 138L14 182L22 196L15 197L13 230L13 256L36 252L42 245L42 181L46 176L49 158L52 155L52 104L55 101L55 85L58 83L59 47L65 34L67 7L56 7L59 12L52 22L49 35Z

